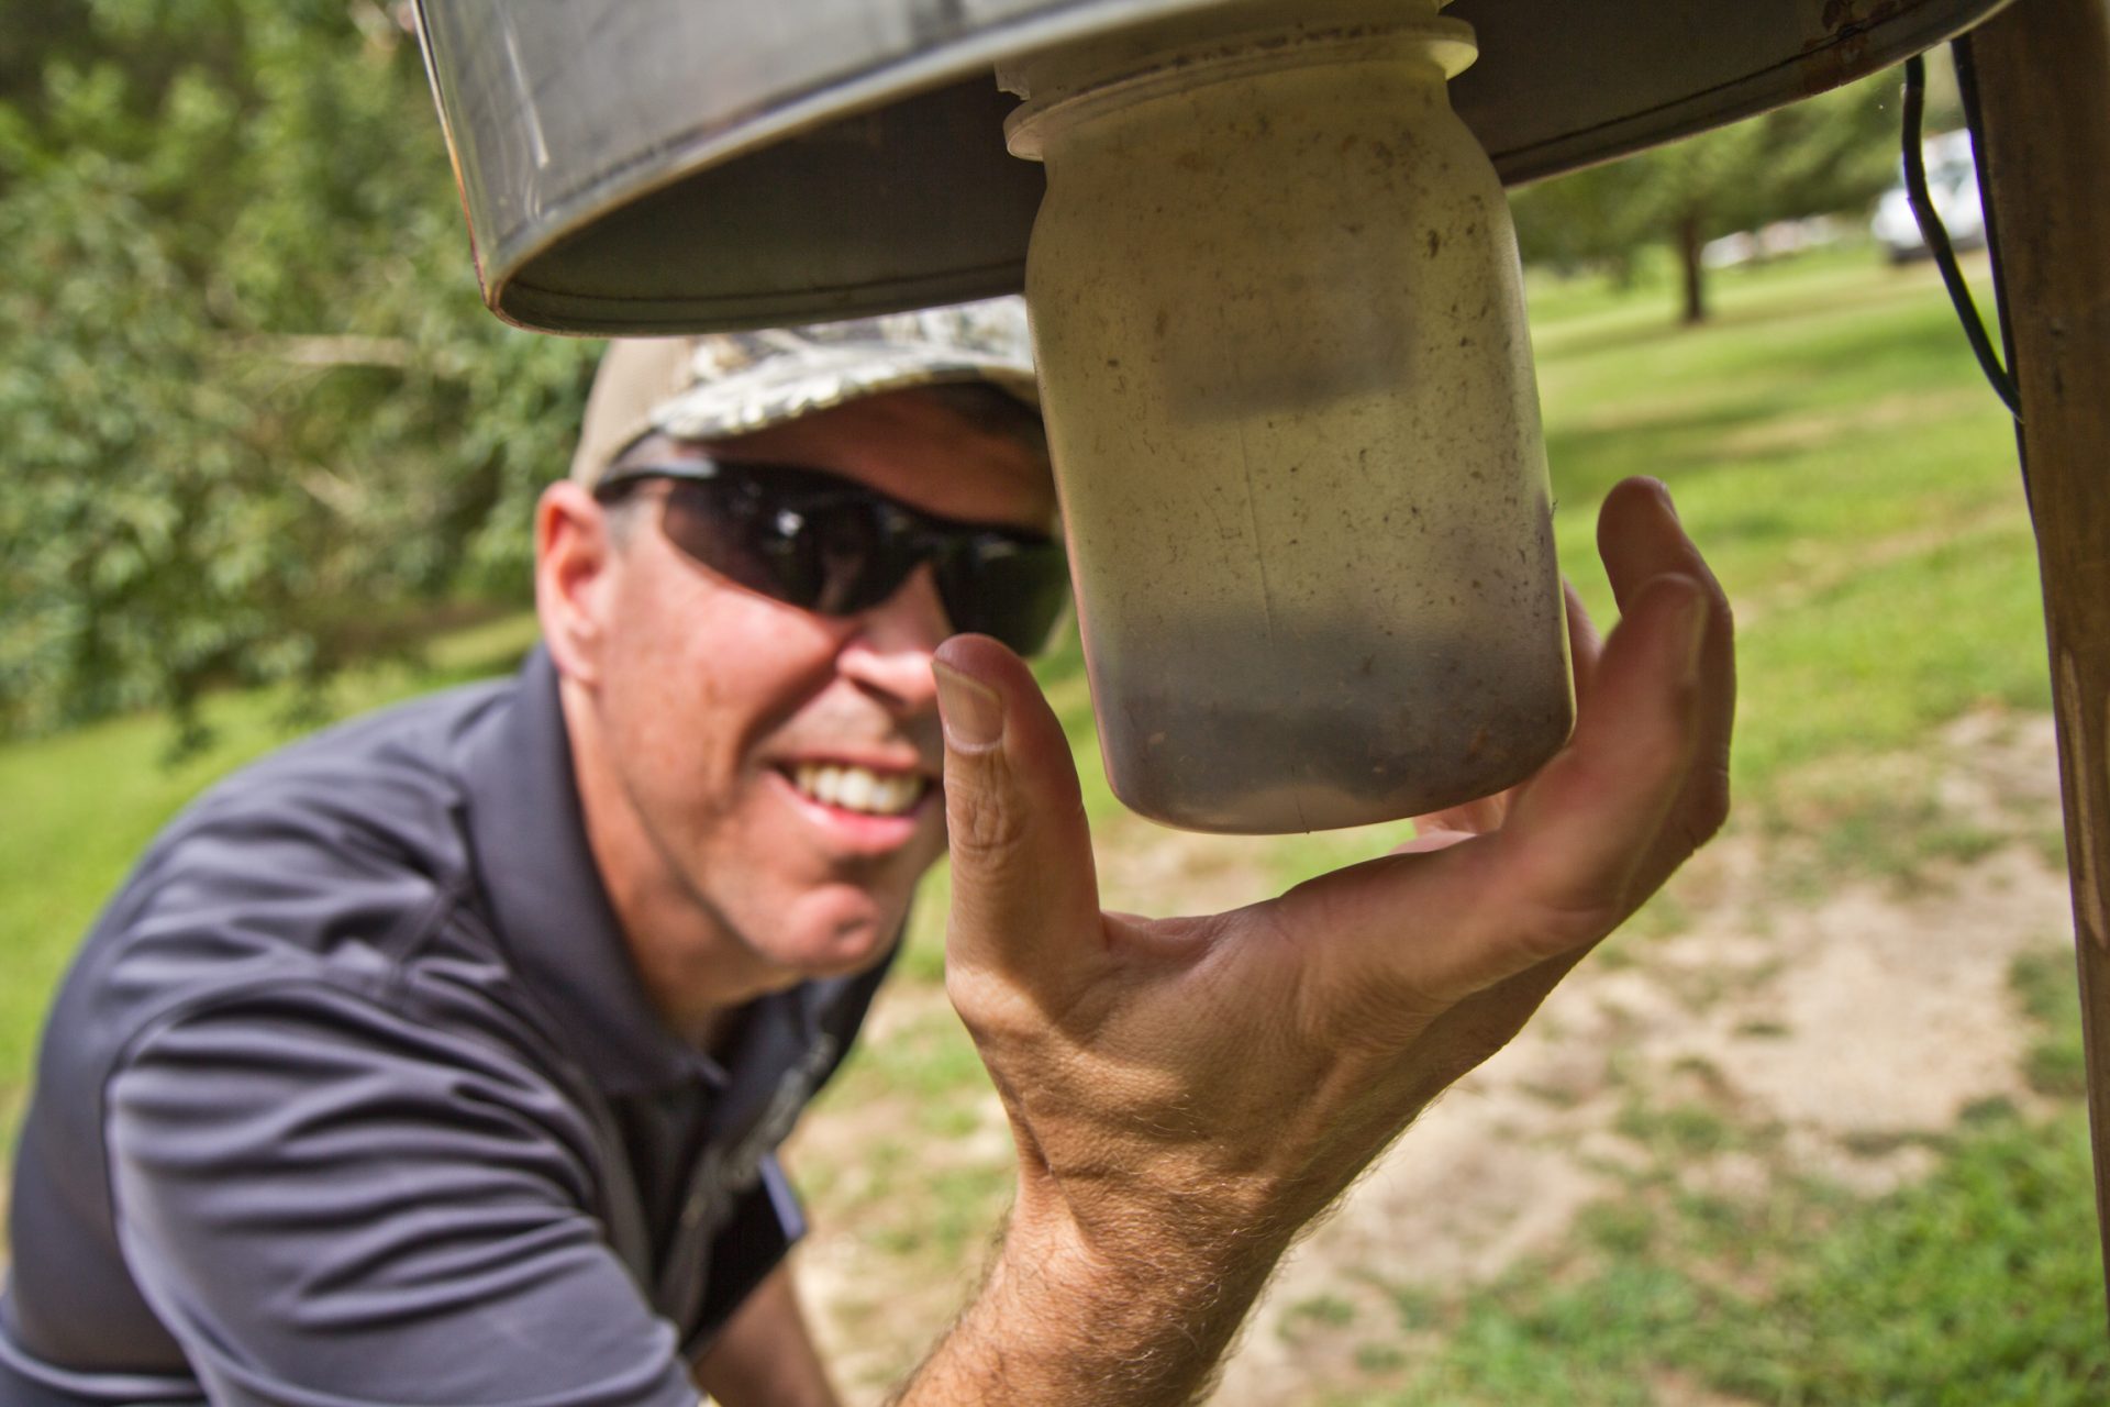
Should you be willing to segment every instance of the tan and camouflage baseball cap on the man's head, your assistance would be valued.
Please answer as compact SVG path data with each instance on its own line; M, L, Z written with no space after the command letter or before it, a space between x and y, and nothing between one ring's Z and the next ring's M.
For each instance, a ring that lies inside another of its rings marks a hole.
M591 487L652 430L724 439L939 382L990 382L1038 409L1025 302L990 297L812 327L618 340L593 378L572 479Z

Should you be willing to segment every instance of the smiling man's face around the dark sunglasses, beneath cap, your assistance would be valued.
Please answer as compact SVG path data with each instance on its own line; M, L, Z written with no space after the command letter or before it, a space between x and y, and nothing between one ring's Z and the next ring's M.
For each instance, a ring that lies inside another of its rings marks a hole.
M1036 454L914 390L625 462L705 449L950 519L1044 532L1055 515ZM694 1013L886 951L945 846L931 652L952 627L928 567L848 618L747 591L667 540L663 492L627 510L593 597L580 783L646 981Z

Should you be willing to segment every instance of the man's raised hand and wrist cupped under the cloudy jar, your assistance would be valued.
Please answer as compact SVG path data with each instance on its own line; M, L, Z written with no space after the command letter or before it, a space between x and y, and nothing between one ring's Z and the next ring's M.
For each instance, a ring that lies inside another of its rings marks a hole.
M1099 909L1076 770L1025 667L939 652L947 991L1019 1194L909 1403L1182 1403L1291 1236L1722 823L1730 614L1661 485L1606 500L1620 624L1570 597L1568 747L1399 852L1209 918Z

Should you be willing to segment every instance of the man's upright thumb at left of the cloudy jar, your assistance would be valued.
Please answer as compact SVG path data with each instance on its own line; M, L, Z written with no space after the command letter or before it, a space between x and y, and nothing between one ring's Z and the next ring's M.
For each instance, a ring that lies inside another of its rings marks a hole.
M939 645L952 922L945 962L1053 975L1099 930L1070 740L1019 656L985 635Z

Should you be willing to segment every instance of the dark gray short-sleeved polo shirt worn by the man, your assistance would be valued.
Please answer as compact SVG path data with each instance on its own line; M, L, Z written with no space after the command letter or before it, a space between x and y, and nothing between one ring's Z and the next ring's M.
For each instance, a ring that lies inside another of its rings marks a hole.
M0 1407L696 1401L880 972L654 1017L536 652L222 783L53 1006Z

